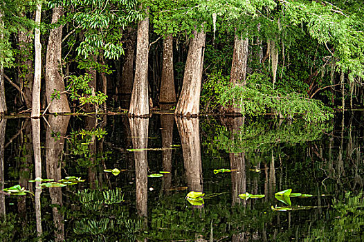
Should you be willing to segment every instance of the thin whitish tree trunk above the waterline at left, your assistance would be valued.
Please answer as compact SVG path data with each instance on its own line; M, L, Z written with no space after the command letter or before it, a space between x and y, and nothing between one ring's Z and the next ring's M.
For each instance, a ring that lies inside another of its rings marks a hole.
M38 3L37 12L35 12L35 23L38 26L40 25L41 15L42 15L42 3ZM35 67L34 67L31 117L38 118L40 116L40 88L41 88L40 83L42 77L42 44L40 44L39 28L35 28L34 46L35 46Z

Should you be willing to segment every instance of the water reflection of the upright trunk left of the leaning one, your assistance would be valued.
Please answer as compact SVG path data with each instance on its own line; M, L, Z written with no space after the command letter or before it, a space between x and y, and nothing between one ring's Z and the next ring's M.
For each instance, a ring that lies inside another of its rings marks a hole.
M129 118L131 137L133 137L134 149L148 147L148 123L147 118ZM136 210L138 215L144 218L148 216L148 178L147 178L147 151L134 152L135 176L136 176Z

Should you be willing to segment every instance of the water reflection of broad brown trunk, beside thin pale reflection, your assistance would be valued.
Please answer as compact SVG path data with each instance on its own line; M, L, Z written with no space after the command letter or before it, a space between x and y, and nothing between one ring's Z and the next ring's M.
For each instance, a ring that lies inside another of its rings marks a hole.
M49 116L50 127L46 129L46 171L47 178L61 179L62 152L64 148L64 136L69 126L69 115L57 117ZM52 133L60 133L60 139L55 140ZM49 189L51 201L54 205L62 206L62 187ZM64 218L57 207L53 207L53 221L55 222L55 241L64 241Z

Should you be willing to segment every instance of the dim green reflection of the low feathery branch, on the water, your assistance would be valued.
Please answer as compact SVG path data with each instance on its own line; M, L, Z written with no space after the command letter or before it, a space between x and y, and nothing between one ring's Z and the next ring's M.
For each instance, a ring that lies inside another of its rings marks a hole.
M327 123L310 124L301 121L293 124L283 123L280 127L274 128L268 122L251 122L244 124L234 133L225 127L220 127L217 129L213 146L228 153L269 151L277 144L294 145L318 140L322 137L322 131L328 130Z

